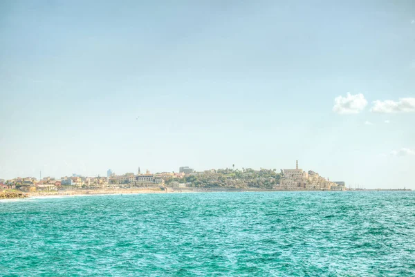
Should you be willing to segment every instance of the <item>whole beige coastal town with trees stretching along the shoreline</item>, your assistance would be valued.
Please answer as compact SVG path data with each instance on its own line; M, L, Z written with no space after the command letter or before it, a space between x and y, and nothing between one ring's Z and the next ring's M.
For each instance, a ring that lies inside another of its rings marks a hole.
M315 171L295 169L210 169L196 172L188 166L179 168L178 173L141 172L117 175L111 169L107 176L86 177L77 175L62 178L39 176L0 179L0 189L17 189L24 192L57 191L68 189L131 189L131 188L228 188L228 189L269 189L279 191L344 191L344 182L331 182Z

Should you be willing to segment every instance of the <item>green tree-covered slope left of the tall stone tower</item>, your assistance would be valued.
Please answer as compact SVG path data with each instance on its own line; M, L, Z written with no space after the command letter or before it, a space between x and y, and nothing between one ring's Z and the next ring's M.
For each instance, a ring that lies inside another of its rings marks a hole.
M171 182L186 183L187 187L225 187L235 189L273 189L281 178L276 169L218 169L185 175L184 178L167 178Z

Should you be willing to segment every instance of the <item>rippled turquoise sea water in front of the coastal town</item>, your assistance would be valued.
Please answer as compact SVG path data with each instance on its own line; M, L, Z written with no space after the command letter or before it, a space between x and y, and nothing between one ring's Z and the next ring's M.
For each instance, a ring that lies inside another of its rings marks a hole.
M0 276L415 276L415 193L0 202Z

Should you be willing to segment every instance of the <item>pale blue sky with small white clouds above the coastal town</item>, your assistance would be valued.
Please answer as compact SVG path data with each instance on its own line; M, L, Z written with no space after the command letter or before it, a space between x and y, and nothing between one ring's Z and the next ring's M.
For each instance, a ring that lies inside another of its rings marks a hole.
M415 189L415 2L0 1L0 178L295 160Z

